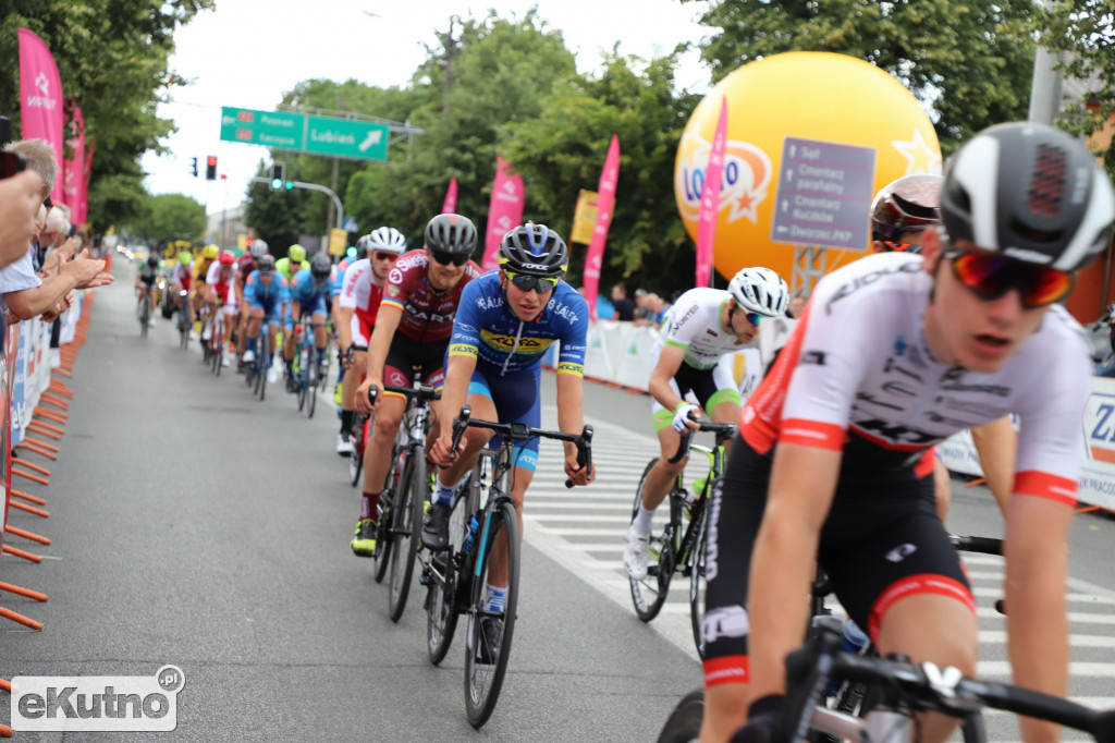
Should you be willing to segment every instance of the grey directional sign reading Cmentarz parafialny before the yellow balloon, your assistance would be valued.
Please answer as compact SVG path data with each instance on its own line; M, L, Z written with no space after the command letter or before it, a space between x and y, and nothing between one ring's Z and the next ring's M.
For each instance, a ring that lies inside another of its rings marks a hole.
M786 137L770 240L866 250L875 151Z

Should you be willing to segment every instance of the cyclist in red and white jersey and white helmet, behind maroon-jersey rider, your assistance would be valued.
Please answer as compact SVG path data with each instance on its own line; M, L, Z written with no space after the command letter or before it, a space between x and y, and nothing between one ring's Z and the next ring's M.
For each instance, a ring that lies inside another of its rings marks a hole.
M345 370L341 388L341 431L337 453L352 454L352 416L356 412L356 388L363 382L368 364L368 341L376 325L379 300L384 296L387 274L407 249L407 239L395 228L381 226L357 240L365 258L345 270L337 307L337 336Z

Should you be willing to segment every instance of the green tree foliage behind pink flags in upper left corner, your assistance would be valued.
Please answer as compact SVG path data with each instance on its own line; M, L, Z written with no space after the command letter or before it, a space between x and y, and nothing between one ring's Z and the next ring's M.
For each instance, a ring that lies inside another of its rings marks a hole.
M155 106L184 81L167 70L174 30L214 0L6 0L0 3L0 59L19 59L18 29L50 47L64 93L81 107L86 141L96 142L89 215L99 232L139 215L144 201L139 158L161 151L173 123ZM0 73L0 100L19 100L19 66ZM21 135L18 105L0 112Z

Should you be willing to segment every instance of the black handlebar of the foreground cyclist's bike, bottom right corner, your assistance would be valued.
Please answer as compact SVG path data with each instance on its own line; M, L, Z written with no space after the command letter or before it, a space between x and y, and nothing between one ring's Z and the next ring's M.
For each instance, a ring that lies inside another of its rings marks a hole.
M1115 710L1097 712L1059 696L999 682L960 676L956 669L925 663L862 656L840 649L840 635L825 630L786 656L785 730L805 735L828 679L843 678L896 687L917 708L966 715L991 707L1047 720L1090 733L1097 741L1115 736Z

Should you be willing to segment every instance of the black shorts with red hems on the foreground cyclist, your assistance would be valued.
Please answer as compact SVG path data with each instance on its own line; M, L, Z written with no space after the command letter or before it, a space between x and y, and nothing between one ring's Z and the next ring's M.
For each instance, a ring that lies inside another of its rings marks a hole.
M709 503L706 685L746 681L744 605L773 455L773 450L759 454L736 436ZM919 477L909 464L842 469L817 559L837 600L872 639L900 596L943 594L975 610L960 559L937 517L931 471Z

